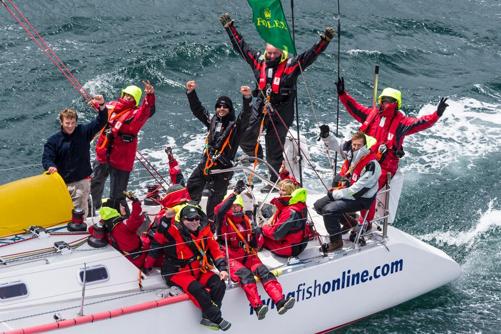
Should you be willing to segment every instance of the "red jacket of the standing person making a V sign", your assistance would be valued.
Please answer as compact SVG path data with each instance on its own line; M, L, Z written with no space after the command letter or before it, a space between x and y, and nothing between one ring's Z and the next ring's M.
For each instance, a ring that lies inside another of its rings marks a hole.
M109 162L117 169L130 172L136 156L137 134L153 114L152 111L154 112L155 94L147 94L141 107L134 107L134 101L132 101L132 105L122 103L122 101L120 99L107 104L108 125L99 136L96 153L100 163ZM123 111L125 111L123 114L116 117ZM105 137L106 130L111 131L108 135L109 138ZM111 148L109 147L110 143Z

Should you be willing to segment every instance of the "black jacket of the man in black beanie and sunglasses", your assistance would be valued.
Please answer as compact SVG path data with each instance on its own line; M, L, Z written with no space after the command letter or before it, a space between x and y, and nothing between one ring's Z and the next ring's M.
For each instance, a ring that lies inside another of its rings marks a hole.
M198 100L198 96L196 95L195 91L187 93L186 95L188 97L191 112L193 112L193 115L207 127L207 131L209 132L207 149L209 150L209 155L211 157L216 150L219 151L221 149L224 141L229 136L228 145L226 145L222 154L223 158L219 159L220 164L218 168L230 167L229 164L224 163L223 161L230 161L235 158L240 137L242 133L247 129L250 114L252 114L252 97L243 97L243 109L240 114L238 114L238 116L235 116L235 110L231 109L230 112L221 119L219 118L219 116L217 116L217 114L210 117L207 109L202 106L202 103L200 102L200 100ZM204 152L202 162L205 162L206 160L207 155Z

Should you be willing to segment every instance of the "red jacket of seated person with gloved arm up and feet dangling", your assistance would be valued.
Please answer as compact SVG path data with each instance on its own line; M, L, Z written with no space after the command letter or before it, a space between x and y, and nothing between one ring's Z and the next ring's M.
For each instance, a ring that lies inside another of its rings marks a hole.
M253 253L249 247L254 249L260 248L263 246L264 240L261 233L252 233L253 228L247 216L235 216L230 210L235 198L235 194L232 193L215 207L214 221L217 226L217 235L220 238L221 245L225 246L226 234L229 257L241 262L245 255ZM243 214L243 212L240 213ZM238 233L235 232L231 223L233 223L238 230ZM242 238L245 241L243 241Z

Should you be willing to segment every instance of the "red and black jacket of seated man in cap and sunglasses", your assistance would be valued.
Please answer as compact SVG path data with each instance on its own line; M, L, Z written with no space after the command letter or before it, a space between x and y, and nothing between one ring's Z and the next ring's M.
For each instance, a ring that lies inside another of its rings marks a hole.
M204 253L203 256L201 252ZM146 256L145 267L151 268L162 253L164 253L162 275L184 272L196 276L200 271L211 268L209 258L214 261L219 271L227 270L226 260L210 231L209 224L200 226L195 232L190 233L175 220L175 217L160 218L160 224Z

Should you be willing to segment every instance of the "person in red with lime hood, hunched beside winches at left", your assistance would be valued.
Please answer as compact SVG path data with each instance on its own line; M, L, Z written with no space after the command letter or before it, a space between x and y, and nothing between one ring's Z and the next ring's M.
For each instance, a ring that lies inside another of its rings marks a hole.
M137 235L137 229L144 222L141 201L132 191L124 191L124 196L132 200L130 217L125 216L125 208L120 202L109 199L99 210L101 220L89 227L89 233L96 239L105 237L113 248L125 255L136 267L142 268L146 252L142 251L142 242Z

